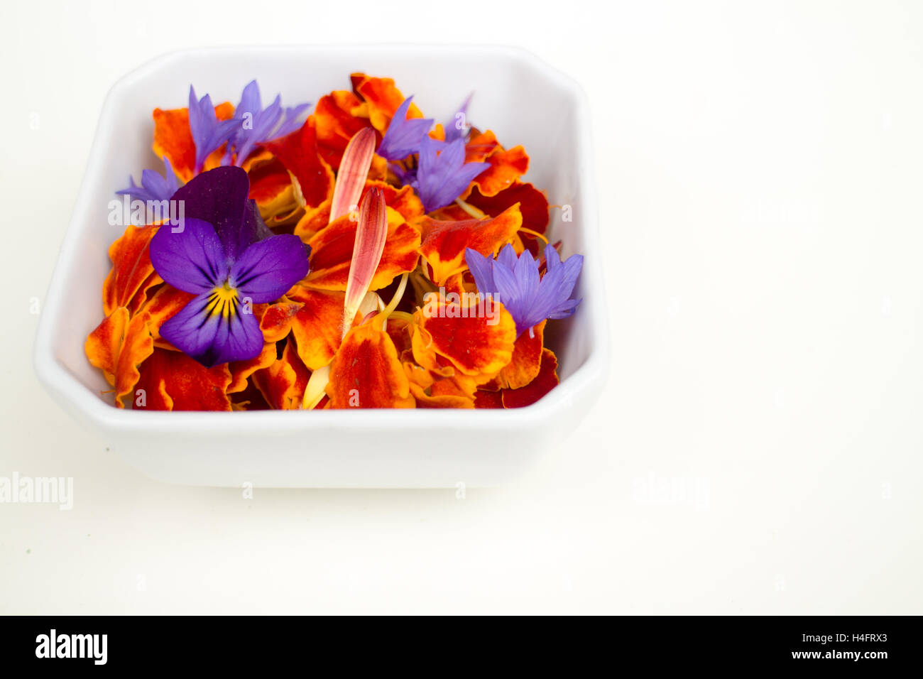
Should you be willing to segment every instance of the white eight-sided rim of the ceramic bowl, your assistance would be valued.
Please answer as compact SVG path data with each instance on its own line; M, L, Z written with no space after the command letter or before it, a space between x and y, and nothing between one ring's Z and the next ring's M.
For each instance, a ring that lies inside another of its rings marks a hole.
M112 127L111 121L116 114L116 100L120 91L138 79L144 79L150 73L177 60L190 56L220 56L222 54L248 53L283 54L285 52L325 54L343 51L389 52L392 54L410 53L426 54L440 52L459 55L493 54L497 57L519 62L521 65L540 70L552 79L557 87L569 91L575 104L577 121L577 173L581 176L581 231L584 236L584 266L581 277L584 285L593 290L593 295L584 298L583 309L592 315L590 329L593 345L583 364L574 370L566 380L555 389L545 394L531 406L490 409L445 408L431 409L426 418L420 418L414 409L359 409L355 410L319 410L310 415L298 415L290 411L254 410L240 412L211 411L171 411L138 412L129 408L109 405L92 394L83 382L80 382L66 366L54 355L53 338L60 327L60 318L65 312L64 287L75 265L72 253L79 237L80 215L89 209L90 177L100 171L104 163L102 139ZM252 45L198 47L167 52L145 62L117 79L102 103L102 112L90 145L90 155L78 190L78 197L67 225L64 240L54 265L54 273L45 295L42 314L36 331L33 365L36 374L61 406L66 406L72 414L89 419L108 430L169 431L171 433L195 434L242 434L271 428L283 433L303 431L314 428L341 429L349 427L357 430L403 429L413 427L418 430L477 427L481 430L508 430L537 426L550 418L557 407L569 402L579 394L589 394L595 398L600 394L609 371L609 327L605 308L605 285L601 261L601 235L598 219L598 203L595 172L593 167L593 140L591 133L591 115L589 101L581 85L555 67L551 67L538 56L521 47L509 45L440 45L440 44L337 44L337 45ZM587 404L588 406L589 404Z

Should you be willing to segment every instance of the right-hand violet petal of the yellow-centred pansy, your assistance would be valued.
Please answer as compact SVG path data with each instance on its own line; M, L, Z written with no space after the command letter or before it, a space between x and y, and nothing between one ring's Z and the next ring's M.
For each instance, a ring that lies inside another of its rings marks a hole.
M244 250L231 269L232 285L241 297L272 302L305 277L307 250L298 236L270 236Z

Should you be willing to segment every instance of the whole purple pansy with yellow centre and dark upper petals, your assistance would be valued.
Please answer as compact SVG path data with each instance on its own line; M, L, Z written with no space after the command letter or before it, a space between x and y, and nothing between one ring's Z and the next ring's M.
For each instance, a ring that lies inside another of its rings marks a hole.
M163 323L161 336L209 368L257 357L263 333L252 305L282 297L308 270L301 238L273 235L249 189L239 167L194 177L173 196L184 204L181 228L164 224L150 240L157 273L197 296Z

